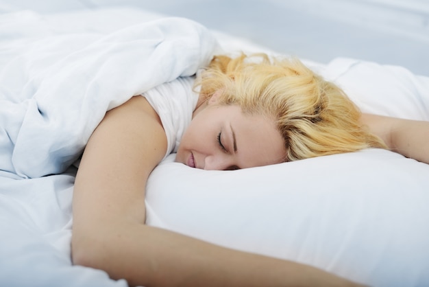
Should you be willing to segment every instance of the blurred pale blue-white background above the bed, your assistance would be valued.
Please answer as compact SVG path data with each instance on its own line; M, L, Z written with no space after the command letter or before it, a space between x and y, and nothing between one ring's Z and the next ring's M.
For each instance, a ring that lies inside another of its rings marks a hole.
M0 12L112 5L185 16L323 63L345 56L429 76L429 0L0 0Z

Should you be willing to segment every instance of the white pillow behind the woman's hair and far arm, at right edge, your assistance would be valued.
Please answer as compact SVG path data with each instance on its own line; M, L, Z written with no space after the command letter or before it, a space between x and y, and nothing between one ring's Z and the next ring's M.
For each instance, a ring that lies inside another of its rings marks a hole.
M365 113L429 121L429 78L399 66L336 58L322 76L342 87Z

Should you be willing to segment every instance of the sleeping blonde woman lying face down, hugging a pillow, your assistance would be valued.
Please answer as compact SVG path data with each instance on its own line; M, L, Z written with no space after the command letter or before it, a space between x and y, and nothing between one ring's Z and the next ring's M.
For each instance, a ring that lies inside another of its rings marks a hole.
M130 286L360 286L145 225L149 174L171 152L205 170L364 148L429 163L428 143L429 122L362 115L339 87L298 60L217 56L197 78L162 84L106 113L75 180L73 262Z

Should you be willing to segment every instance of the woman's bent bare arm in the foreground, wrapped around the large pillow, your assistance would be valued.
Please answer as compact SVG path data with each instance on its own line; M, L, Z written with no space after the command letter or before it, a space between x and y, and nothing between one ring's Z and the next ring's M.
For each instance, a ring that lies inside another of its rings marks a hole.
M147 177L166 148L160 119L144 97L108 112L76 176L75 264L125 278L131 286L357 286L317 268L145 225Z

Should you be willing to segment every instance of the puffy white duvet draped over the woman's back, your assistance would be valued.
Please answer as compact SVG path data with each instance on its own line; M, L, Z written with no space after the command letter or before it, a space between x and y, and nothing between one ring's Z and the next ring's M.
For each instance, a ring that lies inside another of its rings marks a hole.
M0 28L0 38L7 34ZM19 54L0 70L0 170L22 178L63 172L106 111L193 75L218 49L205 27L181 18L108 35L41 33L22 40L9 44Z

